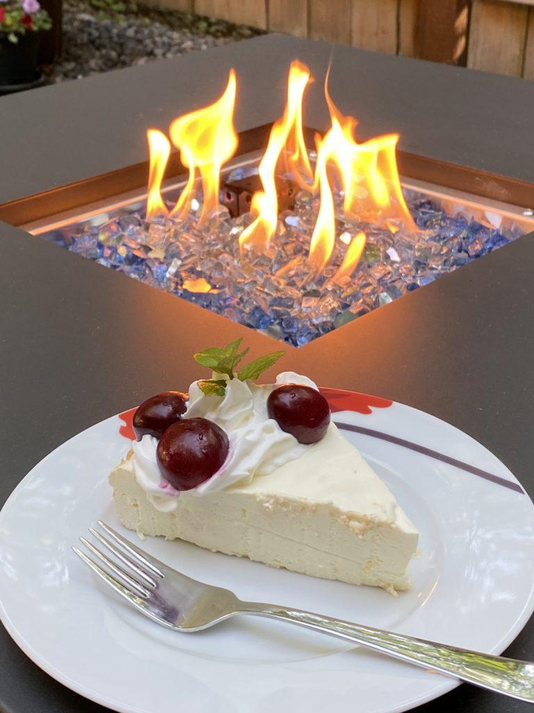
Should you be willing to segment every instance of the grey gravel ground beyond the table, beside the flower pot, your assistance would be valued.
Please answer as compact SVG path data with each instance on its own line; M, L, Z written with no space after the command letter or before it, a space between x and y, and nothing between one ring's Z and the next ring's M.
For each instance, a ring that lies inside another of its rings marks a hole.
M77 79L239 41L261 31L177 10L129 6L104 16L85 0L64 0L63 53L49 81Z

